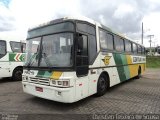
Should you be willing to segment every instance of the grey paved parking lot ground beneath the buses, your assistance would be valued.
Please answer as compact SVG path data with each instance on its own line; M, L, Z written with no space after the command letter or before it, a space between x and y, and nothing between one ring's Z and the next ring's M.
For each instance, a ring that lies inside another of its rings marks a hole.
M72 104L28 95L21 81L1 79L0 114L160 114L160 69L147 69L140 79L116 85L102 97L90 96Z

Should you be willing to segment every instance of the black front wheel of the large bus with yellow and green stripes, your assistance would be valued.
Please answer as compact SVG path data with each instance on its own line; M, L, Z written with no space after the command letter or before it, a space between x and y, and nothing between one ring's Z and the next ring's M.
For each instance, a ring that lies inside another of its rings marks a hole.
M97 83L97 93L96 96L100 97L104 95L108 89L108 79L105 74L100 75Z

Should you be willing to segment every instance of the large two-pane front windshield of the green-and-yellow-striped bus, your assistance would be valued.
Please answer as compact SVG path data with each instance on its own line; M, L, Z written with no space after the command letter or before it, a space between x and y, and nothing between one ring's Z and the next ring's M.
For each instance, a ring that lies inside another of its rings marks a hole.
M70 67L73 33L57 33L27 40L27 66Z

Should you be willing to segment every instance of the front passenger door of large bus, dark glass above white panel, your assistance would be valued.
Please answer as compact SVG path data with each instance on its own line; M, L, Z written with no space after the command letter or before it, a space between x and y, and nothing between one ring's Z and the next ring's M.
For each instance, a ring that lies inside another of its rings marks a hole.
M88 96L88 39L79 34L76 46L76 99Z

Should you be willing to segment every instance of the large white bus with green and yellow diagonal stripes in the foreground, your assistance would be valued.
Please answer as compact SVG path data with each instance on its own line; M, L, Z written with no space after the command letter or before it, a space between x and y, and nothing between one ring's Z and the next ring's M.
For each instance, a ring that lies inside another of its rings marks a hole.
M23 91L72 103L102 96L145 71L145 48L88 18L65 17L28 30Z

